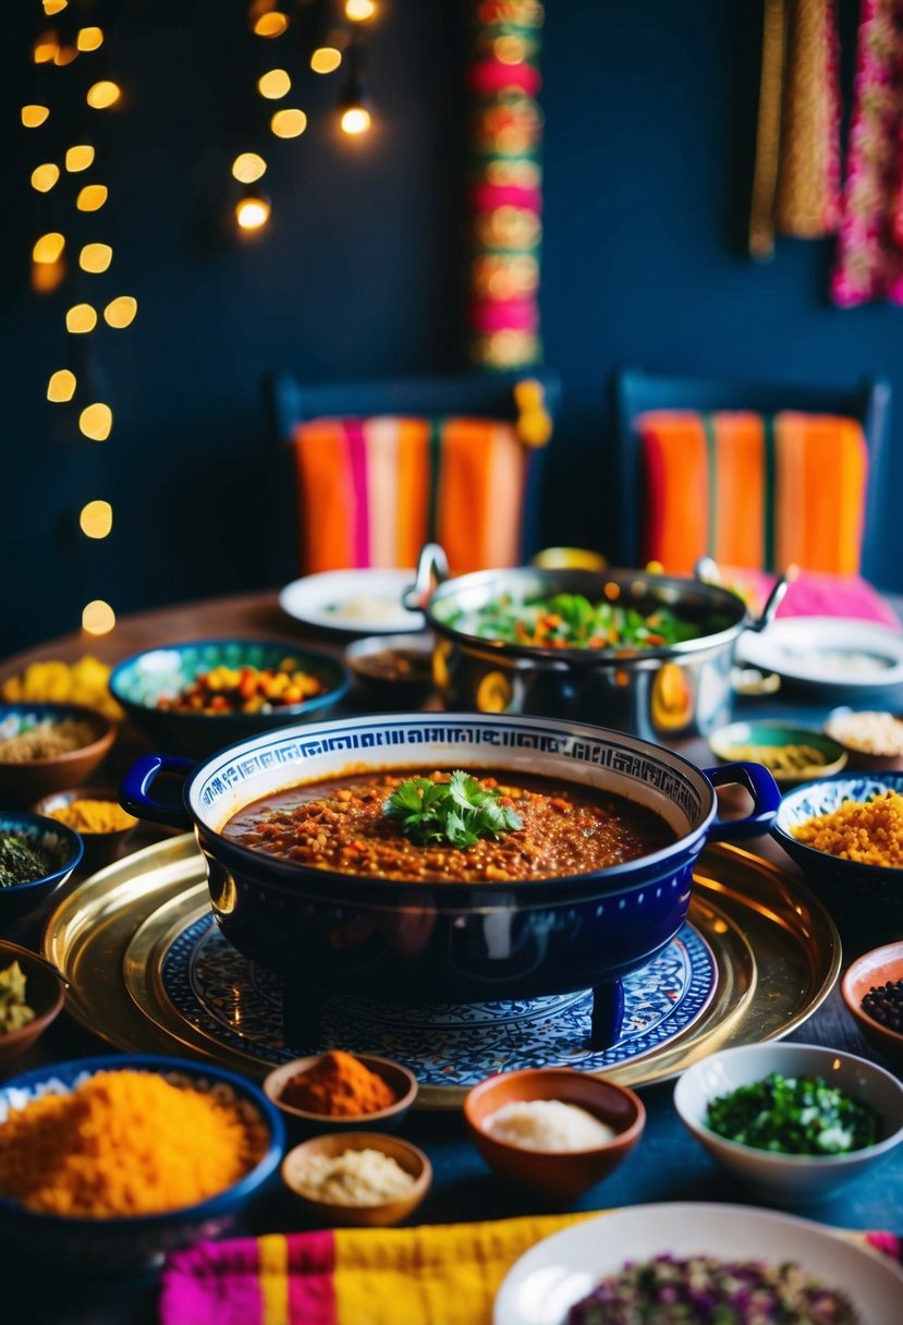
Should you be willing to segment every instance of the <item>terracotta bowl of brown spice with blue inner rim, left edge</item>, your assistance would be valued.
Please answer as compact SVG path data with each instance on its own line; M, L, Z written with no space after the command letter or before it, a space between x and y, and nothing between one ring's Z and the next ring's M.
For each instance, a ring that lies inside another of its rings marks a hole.
M115 733L115 722L78 704L0 704L0 800L29 806L77 787Z

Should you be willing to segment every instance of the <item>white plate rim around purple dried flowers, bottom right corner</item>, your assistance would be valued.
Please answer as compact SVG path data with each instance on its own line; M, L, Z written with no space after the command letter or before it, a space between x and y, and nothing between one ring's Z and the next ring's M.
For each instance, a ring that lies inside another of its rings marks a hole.
M625 1260L707 1252L724 1260L794 1260L845 1292L869 1325L900 1325L903 1271L824 1224L744 1206L629 1206L544 1238L508 1271L494 1325L565 1325L568 1310Z

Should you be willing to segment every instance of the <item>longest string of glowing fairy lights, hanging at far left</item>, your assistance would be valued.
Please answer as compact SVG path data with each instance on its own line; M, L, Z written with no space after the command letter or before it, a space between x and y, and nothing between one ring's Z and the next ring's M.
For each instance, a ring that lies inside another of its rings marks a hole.
M105 292L101 280L114 257L109 237L103 237L110 187L98 178L97 130L90 121L95 113L118 109L122 89L102 77L109 33L91 21L95 9L94 0L41 0L32 48L36 101L21 109L23 126L36 134L38 159L30 187L38 196L42 223L32 246L30 284L36 294L60 292L68 303L68 363L50 372L46 399L71 407L78 432L91 444L109 441L114 427L113 408L101 399L94 334L102 323L123 330L138 313L134 295L109 297L111 290ZM102 541L113 533L113 519L111 502L91 497L81 506L78 529L86 539ZM86 632L105 635L114 625L115 612L106 599L85 603Z

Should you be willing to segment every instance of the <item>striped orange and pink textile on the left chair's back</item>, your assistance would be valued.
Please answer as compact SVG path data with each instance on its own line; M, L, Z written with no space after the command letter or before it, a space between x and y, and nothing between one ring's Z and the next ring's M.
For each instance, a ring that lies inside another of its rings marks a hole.
M494 419L318 419L294 433L301 566L414 566L438 542L454 574L520 560L531 456Z

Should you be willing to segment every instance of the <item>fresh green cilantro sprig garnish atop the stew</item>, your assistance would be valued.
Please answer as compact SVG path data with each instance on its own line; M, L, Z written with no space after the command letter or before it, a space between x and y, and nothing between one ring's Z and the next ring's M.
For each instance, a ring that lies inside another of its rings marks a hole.
M474 847L481 837L498 839L523 828L520 816L499 803L495 788L481 787L461 768L448 782L408 778L383 802L383 814L400 819L401 831L418 847L430 841Z

